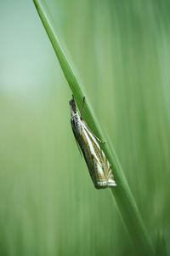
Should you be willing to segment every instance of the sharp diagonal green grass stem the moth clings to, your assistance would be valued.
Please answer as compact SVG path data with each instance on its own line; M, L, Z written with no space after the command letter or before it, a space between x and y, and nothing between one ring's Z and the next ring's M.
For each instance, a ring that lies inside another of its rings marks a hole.
M54 29L51 26L47 15L42 9L42 5L37 0L33 0L33 2L35 3L38 15L40 16L42 24L48 33L48 38L54 47L54 52L57 55L60 67L65 74L65 79L68 81L68 84L71 87L71 91L75 96L77 106L80 110L82 108L82 98L84 96L80 84L78 83L75 73L73 72L69 61L67 60L65 53L59 44L59 40L55 35ZM94 117L94 113L92 108L89 106L88 101L86 103L83 116L88 122L88 125L92 131L94 131L99 138L103 139L102 132L99 129L98 122ZM111 150L108 147L107 143L101 145L101 147L105 151L105 155L111 163L112 171L114 172L114 176L116 178L117 186L116 188L111 189L111 194L114 195L116 207L118 212L120 212L122 221L127 229L127 234L133 242L136 253L137 255L154 255L150 238L146 233L139 209L136 206L133 195L128 187L127 180L122 172L122 167L116 158L116 153L113 149Z

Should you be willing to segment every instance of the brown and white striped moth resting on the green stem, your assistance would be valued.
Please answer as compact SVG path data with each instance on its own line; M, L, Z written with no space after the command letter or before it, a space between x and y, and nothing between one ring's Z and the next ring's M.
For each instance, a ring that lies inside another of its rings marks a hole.
M71 107L71 127L76 138L77 146L82 151L84 159L86 160L88 171L94 182L96 189L105 189L116 186L111 165L105 153L100 148L99 143L105 143L99 140L92 131L88 128L86 122L82 119L82 114L85 106L85 96L82 102L82 112L79 116L77 112L77 105L72 96L69 101Z

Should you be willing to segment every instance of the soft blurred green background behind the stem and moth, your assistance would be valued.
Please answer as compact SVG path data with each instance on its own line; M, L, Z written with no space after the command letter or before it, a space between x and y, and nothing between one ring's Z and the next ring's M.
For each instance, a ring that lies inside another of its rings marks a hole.
M48 0L60 42L170 255L170 2ZM32 1L0 1L0 255L135 255L70 125L71 90Z

